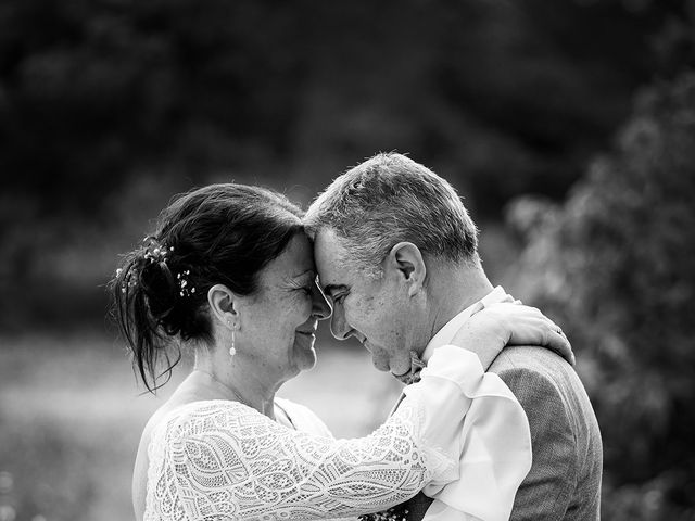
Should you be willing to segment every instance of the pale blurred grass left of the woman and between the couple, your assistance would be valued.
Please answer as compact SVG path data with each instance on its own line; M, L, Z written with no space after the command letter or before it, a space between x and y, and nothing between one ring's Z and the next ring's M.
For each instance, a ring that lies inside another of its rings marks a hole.
M400 384L375 371L358 345L317 345L317 367L279 395L307 405L339 437L370 432ZM130 472L140 432L186 371L178 369L159 397L140 395L117 342L0 339L0 472L12 478L11 490L0 487L0 520L9 506L16 521L132 519Z

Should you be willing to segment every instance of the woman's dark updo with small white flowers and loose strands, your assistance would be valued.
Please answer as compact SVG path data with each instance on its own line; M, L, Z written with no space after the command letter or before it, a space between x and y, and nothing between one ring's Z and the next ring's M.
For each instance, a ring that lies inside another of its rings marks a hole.
M162 212L155 232L125 256L110 283L118 329L150 392L181 358L173 340L212 343L210 288L255 293L258 272L303 231L302 215L279 193L233 183L182 194ZM160 358L165 369L156 376Z

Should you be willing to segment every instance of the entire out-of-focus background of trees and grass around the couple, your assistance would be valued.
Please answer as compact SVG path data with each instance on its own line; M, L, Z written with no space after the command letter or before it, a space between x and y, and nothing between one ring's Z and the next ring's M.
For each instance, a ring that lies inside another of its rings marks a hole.
M391 150L572 340L604 519L695 519L694 66L693 0L3 0L0 520L132 518L169 391L140 395L104 284L174 194L306 204ZM397 384L325 329L282 394L364 434Z

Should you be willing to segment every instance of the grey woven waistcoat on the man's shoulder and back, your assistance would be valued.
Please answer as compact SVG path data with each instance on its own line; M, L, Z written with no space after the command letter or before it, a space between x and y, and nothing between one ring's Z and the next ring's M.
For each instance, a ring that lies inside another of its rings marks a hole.
M546 348L516 346L489 370L515 394L531 429L533 463L511 519L599 519L601 432L573 368Z

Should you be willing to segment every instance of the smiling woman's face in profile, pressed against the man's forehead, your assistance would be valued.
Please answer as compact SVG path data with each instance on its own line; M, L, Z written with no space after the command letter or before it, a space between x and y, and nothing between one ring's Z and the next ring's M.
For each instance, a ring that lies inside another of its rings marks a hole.
M238 313L236 356L260 378L281 383L314 367L316 327L330 307L316 285L312 243L304 233L258 274L258 291L240 302Z

